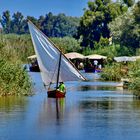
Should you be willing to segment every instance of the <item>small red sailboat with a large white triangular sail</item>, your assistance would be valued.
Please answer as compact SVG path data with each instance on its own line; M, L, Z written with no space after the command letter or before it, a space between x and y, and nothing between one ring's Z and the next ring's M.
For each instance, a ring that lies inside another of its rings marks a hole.
M31 21L29 31L37 56L42 81L48 86L48 97L61 98L65 93L58 90L59 82L86 80L63 52ZM55 89L51 85L56 84Z

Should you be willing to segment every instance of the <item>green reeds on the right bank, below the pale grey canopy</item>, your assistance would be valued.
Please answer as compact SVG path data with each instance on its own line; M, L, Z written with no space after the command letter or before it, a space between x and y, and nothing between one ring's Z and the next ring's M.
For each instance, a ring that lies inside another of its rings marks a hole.
M120 81L122 78L129 79L128 89L133 90L140 97L140 60L129 63L111 63L104 67L101 79L105 81Z

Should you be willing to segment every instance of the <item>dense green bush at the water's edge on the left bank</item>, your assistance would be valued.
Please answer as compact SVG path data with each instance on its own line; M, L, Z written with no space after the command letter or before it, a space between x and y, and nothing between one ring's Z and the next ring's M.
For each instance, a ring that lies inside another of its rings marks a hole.
M29 95L31 83L20 63L0 59L0 95Z

